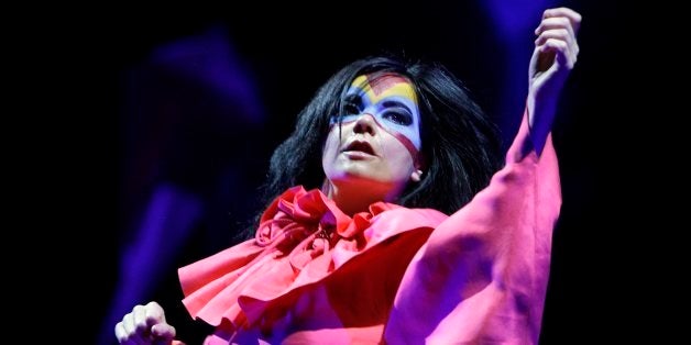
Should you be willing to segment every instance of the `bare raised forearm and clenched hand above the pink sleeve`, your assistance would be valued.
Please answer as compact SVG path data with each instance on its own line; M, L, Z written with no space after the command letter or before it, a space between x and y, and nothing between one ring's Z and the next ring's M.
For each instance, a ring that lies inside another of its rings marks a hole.
M528 71L528 123L538 155L551 131L561 89L577 60L575 34L581 15L568 8L549 9L535 30L535 49Z

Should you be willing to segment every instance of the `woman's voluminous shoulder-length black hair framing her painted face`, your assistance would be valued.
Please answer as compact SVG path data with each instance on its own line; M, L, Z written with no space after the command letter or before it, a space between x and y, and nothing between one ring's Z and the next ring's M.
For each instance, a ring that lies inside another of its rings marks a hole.
M321 149L330 116L339 113L355 77L376 73L406 77L419 98L426 168L423 180L409 183L398 203L450 214L487 186L503 164L498 130L471 99L463 84L437 63L376 56L343 67L299 113L295 131L271 158L263 204L267 205L293 186L303 185L307 190L322 186Z

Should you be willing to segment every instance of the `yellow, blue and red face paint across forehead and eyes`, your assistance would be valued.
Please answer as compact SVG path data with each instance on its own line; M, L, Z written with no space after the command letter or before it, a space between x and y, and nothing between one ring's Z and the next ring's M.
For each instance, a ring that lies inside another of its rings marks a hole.
M347 92L341 124L371 115L384 131L396 137L413 157L421 148L420 114L410 82L395 74L360 76ZM337 124L339 116L331 118Z

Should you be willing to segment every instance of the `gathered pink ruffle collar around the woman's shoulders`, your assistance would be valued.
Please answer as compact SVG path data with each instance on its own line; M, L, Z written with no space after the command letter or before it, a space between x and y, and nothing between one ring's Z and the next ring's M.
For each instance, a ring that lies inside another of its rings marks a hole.
M395 220L401 218L392 216L379 230L372 226L377 215L398 213L396 210L418 215L406 224L398 224ZM318 282L385 238L416 227L431 227L442 218L434 210L413 211L385 202L373 203L368 212L350 218L320 190L306 191L297 186L276 198L263 213L254 240L178 270L183 303L193 318L211 325L226 320L235 330L249 327L272 302Z

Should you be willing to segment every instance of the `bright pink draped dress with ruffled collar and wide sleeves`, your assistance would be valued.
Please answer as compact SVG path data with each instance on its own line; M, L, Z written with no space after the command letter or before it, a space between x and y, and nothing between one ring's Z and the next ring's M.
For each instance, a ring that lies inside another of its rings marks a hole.
M536 344L561 193L548 137L456 213L377 202L353 218L294 187L254 240L179 269L205 344Z

